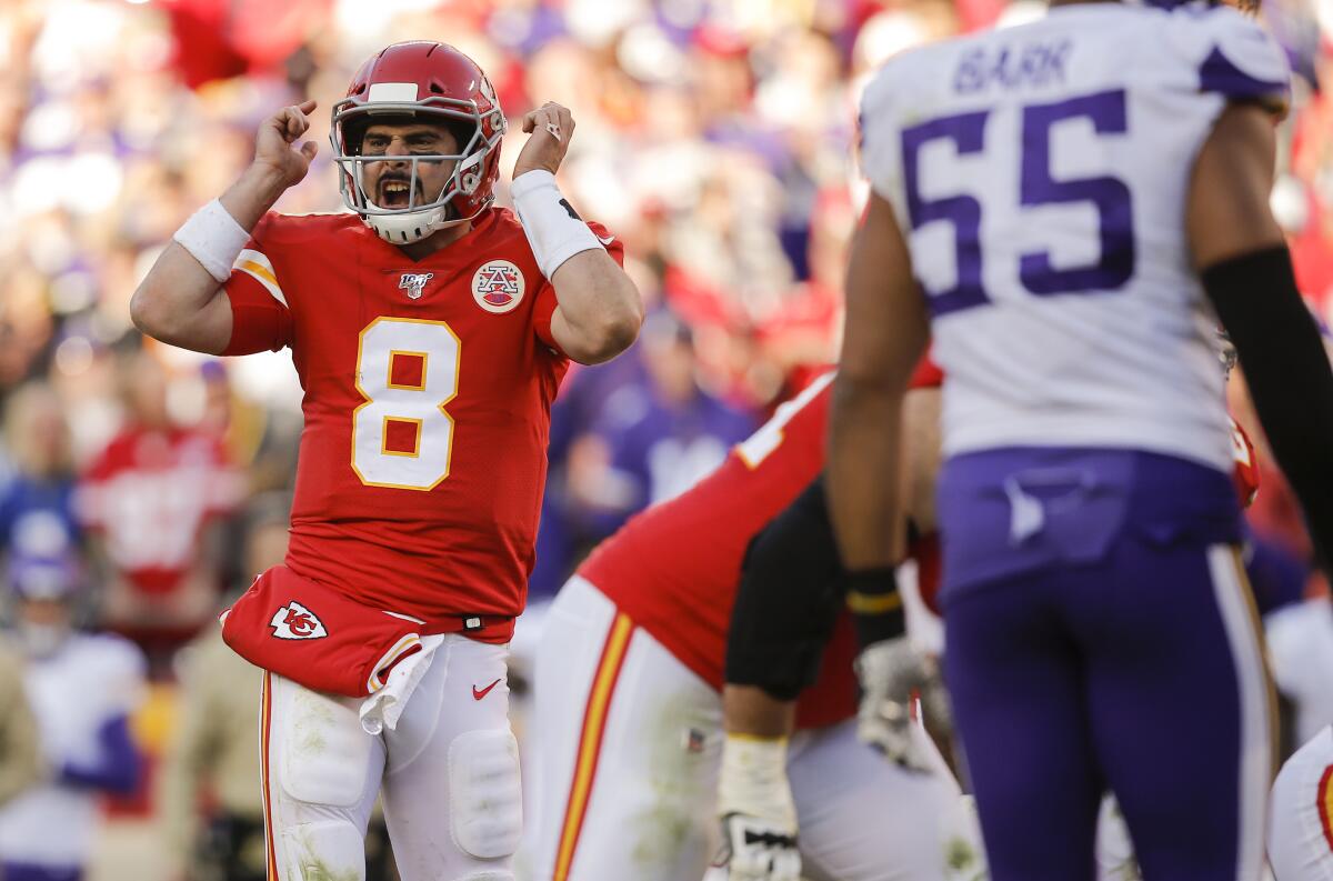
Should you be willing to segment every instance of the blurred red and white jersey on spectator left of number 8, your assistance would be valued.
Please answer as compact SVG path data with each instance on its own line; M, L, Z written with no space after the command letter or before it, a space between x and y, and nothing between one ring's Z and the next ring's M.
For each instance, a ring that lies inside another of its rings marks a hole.
M244 481L221 442L199 431L129 427L79 485L79 516L144 593L167 593L200 554L200 533L241 501Z

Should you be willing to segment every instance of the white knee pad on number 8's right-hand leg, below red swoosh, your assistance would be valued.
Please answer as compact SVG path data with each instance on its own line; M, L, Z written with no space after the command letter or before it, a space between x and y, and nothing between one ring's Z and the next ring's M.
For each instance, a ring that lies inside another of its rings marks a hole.
M509 730L477 730L449 744L449 814L453 842L479 860L508 857L523 834L519 742ZM476 881L491 881L483 872ZM495 873L505 881L508 873ZM472 881L473 876L467 876Z

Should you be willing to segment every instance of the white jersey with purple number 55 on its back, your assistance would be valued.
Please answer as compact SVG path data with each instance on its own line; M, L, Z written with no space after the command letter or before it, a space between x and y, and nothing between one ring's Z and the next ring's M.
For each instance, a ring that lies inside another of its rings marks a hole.
M1185 201L1226 103L1277 109L1289 76L1230 8L1120 3L1056 7L876 76L862 163L930 307L946 454L1112 446L1230 469Z

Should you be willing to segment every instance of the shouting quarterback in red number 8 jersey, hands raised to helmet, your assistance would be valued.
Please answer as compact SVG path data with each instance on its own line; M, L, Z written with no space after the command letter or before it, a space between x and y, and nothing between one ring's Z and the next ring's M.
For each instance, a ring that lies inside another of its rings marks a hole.
M505 642L523 610L551 401L615 357L640 297L556 187L569 111L523 120L517 213L492 205L505 117L439 43L363 65L331 140L352 213L269 209L315 157L313 101L167 247L131 304L212 355L289 347L305 389L292 538L225 616L263 666L268 877L360 878L383 792L404 881L512 878L521 826Z

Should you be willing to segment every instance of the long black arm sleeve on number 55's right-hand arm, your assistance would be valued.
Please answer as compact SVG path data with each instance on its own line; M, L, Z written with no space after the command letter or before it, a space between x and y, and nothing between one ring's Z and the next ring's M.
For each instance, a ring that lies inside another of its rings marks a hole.
M1285 247L1256 251L1208 267L1202 280L1326 565L1333 549L1333 369L1296 287L1292 257Z

